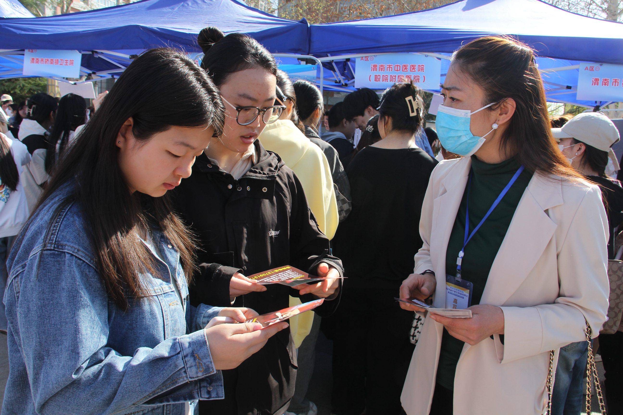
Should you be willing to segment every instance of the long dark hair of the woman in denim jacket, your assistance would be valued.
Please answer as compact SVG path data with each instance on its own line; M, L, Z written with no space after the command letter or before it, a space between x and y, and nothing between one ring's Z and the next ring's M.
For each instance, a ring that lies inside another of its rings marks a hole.
M175 105L163 96L174 96ZM128 296L142 295L140 273L155 271L153 257L138 239L140 229L150 223L159 227L178 250L188 279L193 276L195 244L168 195L155 198L128 190L115 145L121 126L131 117L132 134L139 141L171 126L212 126L221 134L224 111L216 86L192 60L173 49L148 50L121 74L57 163L35 210L59 187L75 182L69 198L85 214L98 271L108 296L122 309Z

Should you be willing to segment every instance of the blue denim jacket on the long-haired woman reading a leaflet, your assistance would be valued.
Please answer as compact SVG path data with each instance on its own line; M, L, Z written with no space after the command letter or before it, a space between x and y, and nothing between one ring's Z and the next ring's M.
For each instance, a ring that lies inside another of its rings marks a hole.
M80 206L65 200L73 186L37 210L7 259L2 414L178 415L189 401L222 399L202 330L221 308L189 304L179 253L158 230L158 274L141 275L146 297L118 308L95 266Z

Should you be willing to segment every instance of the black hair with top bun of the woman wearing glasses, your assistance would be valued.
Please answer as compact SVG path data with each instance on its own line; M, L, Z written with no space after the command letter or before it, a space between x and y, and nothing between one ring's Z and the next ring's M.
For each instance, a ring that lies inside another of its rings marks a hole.
M273 55L249 35L231 33L226 36L217 27L206 27L199 32L197 44L204 53L201 67L216 86L223 85L232 73L254 67L277 76Z

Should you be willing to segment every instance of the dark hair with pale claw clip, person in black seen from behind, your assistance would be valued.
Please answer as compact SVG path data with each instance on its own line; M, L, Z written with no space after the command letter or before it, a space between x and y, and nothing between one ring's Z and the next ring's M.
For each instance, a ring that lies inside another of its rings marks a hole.
M416 133L424 124L422 90L413 82L394 83L381 96L380 118L391 119L394 131Z

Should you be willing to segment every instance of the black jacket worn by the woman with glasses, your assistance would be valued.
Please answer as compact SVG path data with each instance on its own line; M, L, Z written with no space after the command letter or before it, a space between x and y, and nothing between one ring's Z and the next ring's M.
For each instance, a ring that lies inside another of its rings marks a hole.
M201 273L189 287L193 305L230 306L229 281L237 271L251 275L292 265L315 274L324 261L343 273L340 259L329 254L329 241L318 229L294 172L259 141L254 145L257 163L240 179L202 154L191 176L175 191L177 212L199 237ZM265 314L288 307L288 296L298 297L298 290L270 284L267 291L238 297L234 305ZM340 296L341 289L316 313L332 314ZM313 299L312 294L301 297L302 302ZM236 383L237 414L277 412L292 398L296 368L294 343L287 329L238 368L223 371L226 391L228 382ZM201 401L199 412L214 413L213 404Z

